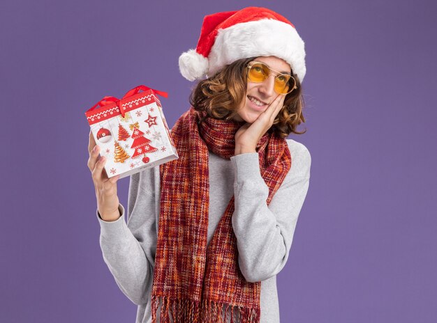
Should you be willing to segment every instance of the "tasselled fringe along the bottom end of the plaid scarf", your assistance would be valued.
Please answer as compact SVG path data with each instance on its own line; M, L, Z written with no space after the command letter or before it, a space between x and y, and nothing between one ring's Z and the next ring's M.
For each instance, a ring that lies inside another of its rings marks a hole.
M156 314L161 305L159 323L259 323L260 308L218 303L216 301L200 302L191 299L170 299L166 296L151 297L151 322L156 321ZM223 310L224 308L224 310Z

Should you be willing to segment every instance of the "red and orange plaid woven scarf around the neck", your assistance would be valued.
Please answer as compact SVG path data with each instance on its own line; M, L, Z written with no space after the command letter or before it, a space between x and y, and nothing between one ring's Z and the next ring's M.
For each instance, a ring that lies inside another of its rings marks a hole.
M179 159L160 166L152 322L159 306L161 323L171 322L170 317L177 323L228 322L229 318L230 322L260 322L261 284L247 282L239 270L231 222L233 196L207 245L208 150L230 159L235 154L235 132L242 124L214 118L199 124L202 116L191 108L177 120L172 138ZM268 133L257 148L270 203L290 170L290 150L285 139Z

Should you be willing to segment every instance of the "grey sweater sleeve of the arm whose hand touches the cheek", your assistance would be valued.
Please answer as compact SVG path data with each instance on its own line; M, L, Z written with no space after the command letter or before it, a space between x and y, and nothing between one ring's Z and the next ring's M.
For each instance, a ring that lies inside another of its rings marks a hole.
M249 282L265 281L286 265L297 217L309 189L311 155L302 143L292 166L267 206L269 189L260 174L258 153L231 157L235 171L235 212L239 268Z

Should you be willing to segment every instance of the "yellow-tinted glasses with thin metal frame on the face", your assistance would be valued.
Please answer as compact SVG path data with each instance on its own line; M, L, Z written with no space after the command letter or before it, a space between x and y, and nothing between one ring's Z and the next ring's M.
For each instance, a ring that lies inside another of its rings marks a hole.
M297 88L296 79L290 74L272 70L265 63L251 61L247 64L247 78L251 82L262 83L270 74L274 74L274 90L278 94L288 94Z

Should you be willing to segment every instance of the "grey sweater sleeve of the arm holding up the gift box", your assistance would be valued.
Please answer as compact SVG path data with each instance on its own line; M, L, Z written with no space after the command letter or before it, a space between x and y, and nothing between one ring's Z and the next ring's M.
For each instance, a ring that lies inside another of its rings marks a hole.
M156 251L154 171L154 168L147 168L131 175L127 223L121 204L121 216L116 221L104 221L97 212L103 260L120 290L137 305L147 303L153 283Z

